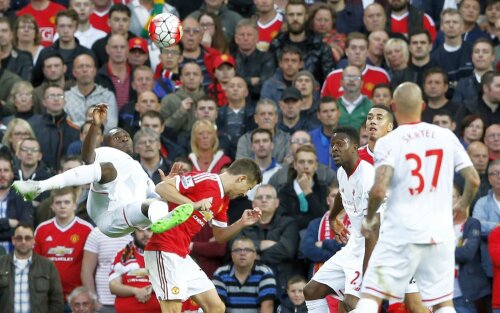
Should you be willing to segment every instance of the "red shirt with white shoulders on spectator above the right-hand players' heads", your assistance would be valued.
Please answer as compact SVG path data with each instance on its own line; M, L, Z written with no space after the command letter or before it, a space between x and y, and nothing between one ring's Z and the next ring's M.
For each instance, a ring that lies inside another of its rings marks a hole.
M328 74L323 88L321 89L321 96L331 96L338 99L344 95L344 88L342 88L342 71L343 69L336 69ZM373 88L377 84L388 84L390 81L389 74L377 66L366 64L363 72L363 86L361 93L368 98L372 97Z

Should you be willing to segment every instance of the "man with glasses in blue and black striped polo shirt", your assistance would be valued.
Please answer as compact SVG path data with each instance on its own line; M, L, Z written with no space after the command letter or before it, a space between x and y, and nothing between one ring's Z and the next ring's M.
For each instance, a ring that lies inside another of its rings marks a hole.
M231 264L219 267L213 278L226 312L243 309L274 312L276 279L269 266L256 262L257 249L252 239L236 238L231 246L231 260Z

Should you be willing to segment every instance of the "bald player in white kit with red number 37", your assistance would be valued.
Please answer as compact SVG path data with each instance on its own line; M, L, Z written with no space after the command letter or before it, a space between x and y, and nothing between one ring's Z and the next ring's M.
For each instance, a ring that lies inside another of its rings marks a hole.
M468 207L479 176L463 146L448 129L420 122L422 92L403 83L394 92L398 128L375 145L375 182L363 233L370 237L375 213L386 197L379 240L363 278L356 312L376 313L382 299L402 300L412 276L422 302L435 313L455 313L453 175L465 179L460 207Z

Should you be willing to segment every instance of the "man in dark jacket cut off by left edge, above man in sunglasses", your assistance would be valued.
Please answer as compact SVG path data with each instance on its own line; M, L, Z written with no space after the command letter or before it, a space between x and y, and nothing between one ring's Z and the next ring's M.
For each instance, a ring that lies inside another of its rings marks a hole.
M12 251L10 244L14 228L20 222L33 223L33 206L31 202L12 192L10 185L14 179L14 171L10 156L0 154L0 245L7 252Z

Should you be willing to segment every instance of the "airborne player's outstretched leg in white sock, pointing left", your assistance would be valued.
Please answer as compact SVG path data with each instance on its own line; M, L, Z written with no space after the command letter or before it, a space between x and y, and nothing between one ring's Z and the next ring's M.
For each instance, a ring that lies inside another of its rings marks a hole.
M47 190L100 182L103 172L106 172L107 176L112 177L113 170L114 167L111 163L81 165L46 180L16 180L12 184L12 187L17 193L23 196L25 201L31 201ZM116 170L114 170L114 177L116 177Z

